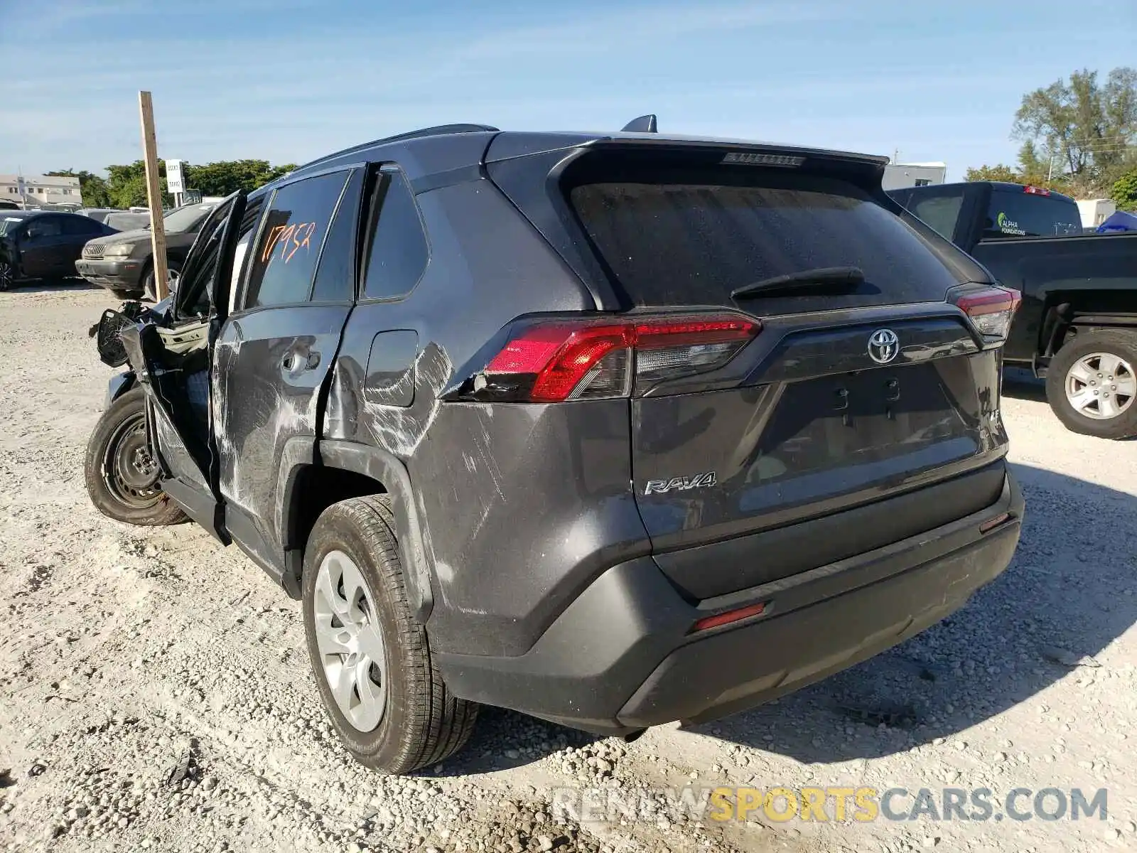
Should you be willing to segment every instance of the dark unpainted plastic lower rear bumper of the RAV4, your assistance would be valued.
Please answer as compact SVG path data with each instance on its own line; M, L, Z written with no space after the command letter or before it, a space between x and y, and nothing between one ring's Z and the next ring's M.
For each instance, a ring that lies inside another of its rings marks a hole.
M1022 495L882 548L698 604L652 557L594 581L525 654L437 655L458 696L621 734L762 704L922 631L1014 555ZM987 532L979 527L1007 513ZM756 618L691 636L708 613L765 602Z

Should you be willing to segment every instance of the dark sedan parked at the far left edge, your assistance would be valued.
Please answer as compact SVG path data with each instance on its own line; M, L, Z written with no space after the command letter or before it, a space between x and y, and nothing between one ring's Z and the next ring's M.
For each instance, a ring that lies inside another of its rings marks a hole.
M0 213L0 290L75 278L75 259L92 238L115 230L88 216L49 210Z

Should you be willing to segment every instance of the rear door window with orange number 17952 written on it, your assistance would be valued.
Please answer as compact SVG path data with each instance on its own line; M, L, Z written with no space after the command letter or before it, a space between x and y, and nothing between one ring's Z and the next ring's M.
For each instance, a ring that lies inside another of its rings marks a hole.
M260 229L244 307L308 301L316 260L347 173L308 177L274 194Z

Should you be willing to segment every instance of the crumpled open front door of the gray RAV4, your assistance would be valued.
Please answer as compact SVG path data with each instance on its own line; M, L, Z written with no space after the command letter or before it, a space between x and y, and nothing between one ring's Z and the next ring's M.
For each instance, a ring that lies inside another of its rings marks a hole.
M122 333L127 361L147 395L147 430L161 467L159 483L225 544L209 376L218 306L224 314L224 287L243 212L243 192L218 205L185 258L167 314L151 314Z

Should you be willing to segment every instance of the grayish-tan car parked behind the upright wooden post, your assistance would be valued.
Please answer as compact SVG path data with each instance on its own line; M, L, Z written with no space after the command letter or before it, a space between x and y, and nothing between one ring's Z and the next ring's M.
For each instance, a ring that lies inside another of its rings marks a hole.
M166 263L171 287L177 280L182 260L193 245L201 223L216 204L185 205L167 213ZM150 226L115 234L114 240L92 240L83 247L82 257L75 263L78 274L92 284L99 284L119 297L155 297L153 250Z

